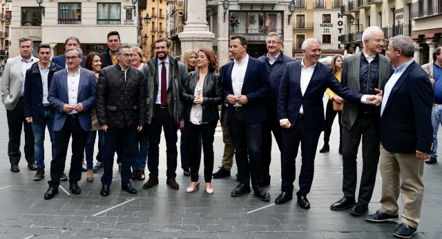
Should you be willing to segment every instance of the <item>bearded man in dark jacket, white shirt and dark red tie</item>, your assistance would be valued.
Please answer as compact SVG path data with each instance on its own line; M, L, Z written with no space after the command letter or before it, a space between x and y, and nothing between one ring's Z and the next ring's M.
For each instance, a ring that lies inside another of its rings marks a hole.
M155 54L144 66L144 82L147 86L147 123L151 124L147 167L149 179L143 189L150 189L158 184L158 164L160 157L161 131L166 138L167 180L172 189L179 189L177 184L177 124L181 118L182 103L180 90L187 77L186 66L169 55L169 41L160 37L155 41Z

